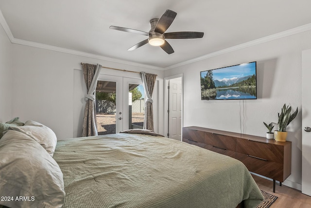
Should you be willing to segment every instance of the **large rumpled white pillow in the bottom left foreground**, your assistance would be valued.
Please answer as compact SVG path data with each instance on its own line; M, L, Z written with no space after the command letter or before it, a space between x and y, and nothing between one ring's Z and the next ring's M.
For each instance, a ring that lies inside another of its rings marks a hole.
M34 139L8 130L0 139L0 201L10 208L60 208L65 199L63 173ZM22 197L22 198L20 198Z

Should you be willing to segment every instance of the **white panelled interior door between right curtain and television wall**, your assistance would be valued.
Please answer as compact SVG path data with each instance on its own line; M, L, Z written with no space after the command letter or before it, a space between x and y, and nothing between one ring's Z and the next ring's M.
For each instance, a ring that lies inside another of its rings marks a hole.
M181 140L182 78L169 80L168 137Z

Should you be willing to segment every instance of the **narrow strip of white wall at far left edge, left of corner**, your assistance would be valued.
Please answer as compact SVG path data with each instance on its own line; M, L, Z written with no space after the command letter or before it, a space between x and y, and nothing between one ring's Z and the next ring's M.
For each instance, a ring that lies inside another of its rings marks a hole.
M12 118L12 43L0 24L0 122Z

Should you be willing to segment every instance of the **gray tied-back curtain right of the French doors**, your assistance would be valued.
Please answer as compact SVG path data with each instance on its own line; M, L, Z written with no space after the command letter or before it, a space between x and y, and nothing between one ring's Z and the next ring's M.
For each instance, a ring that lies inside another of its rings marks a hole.
M153 100L152 94L155 88L156 74L148 74L146 72L140 72L142 85L145 90L145 118L143 129L149 129L154 131L154 112L153 112Z

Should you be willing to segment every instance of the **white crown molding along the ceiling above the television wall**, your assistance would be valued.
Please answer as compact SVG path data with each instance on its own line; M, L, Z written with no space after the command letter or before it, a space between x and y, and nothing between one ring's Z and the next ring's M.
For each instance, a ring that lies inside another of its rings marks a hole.
M193 62L201 61L201 60L204 60L204 59L207 59L207 58L211 58L211 57L214 57L214 56L218 56L218 55L221 55L221 54L225 54L225 53L228 53L228 52L234 52L234 51L241 50L241 49L244 49L244 48L248 48L248 47L251 47L251 46L256 46L256 45L259 45L261 43L269 42L269 41L276 40L276 39L279 39L279 38L282 38L282 37L286 37L286 36L290 36L290 35L295 35L295 34L298 34L298 33L309 31L309 30L311 30L311 23L306 24L306 25L302 25L300 27L296 27L296 28L293 28L293 29L290 29L290 30L286 30L286 31L283 31L283 32L280 32L280 33L276 33L274 35L269 35L269 36L265 36L265 37L262 37L262 38L259 38L259 39L256 39L256 40L252 40L252 41L249 41L249 42L246 42L246 43L242 43L240 45L236 45L236 46L233 46L233 47L230 47L230 48L226 48L224 50L220 50L220 51L217 51L217 52L211 52L211 53L208 53L206 55L190 59L188 61L184 61L184 62L181 62L181 63L178 63L178 64L171 65L169 67L164 68L164 70L181 67L181 66L193 63Z

